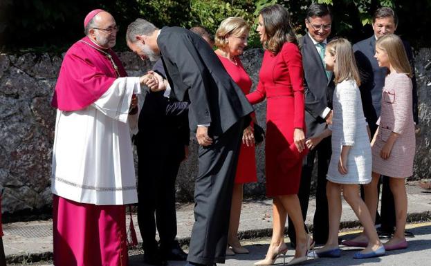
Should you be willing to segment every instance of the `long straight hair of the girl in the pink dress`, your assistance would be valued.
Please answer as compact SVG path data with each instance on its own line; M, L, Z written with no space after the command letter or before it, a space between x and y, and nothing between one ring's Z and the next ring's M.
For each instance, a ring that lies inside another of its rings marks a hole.
M394 34L384 35L376 41L376 48L384 50L387 53L389 64L391 64L392 68L394 68L397 73L405 73L405 75L409 77L413 76L412 66L410 66L403 41L401 41L400 37ZM388 68L387 73L389 72L390 70Z

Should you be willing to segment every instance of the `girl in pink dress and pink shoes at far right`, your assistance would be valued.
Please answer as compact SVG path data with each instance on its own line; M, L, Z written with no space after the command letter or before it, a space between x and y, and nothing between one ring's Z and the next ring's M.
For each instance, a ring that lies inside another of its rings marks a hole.
M388 69L383 88L378 129L372 140L372 182L365 187L370 213L377 209L377 184L380 175L389 176L394 195L396 224L394 236L385 243L386 250L405 249L407 194L405 178L413 175L416 140L412 112L412 68L403 41L396 35L385 35L376 41L378 66Z

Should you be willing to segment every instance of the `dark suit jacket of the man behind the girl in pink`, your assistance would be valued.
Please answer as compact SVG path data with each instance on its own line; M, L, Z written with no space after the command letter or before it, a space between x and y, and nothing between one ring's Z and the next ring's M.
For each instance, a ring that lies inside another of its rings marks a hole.
M413 53L410 44L403 41L405 52L414 71ZM380 104L382 99L382 89L385 86L385 77L387 68L380 68L377 60L374 58L376 53L376 37L374 35L363 41L354 44L354 53L356 64L360 73L360 95L362 97L364 115L367 119L369 128L372 133L376 131L376 122L380 116ZM416 78L412 77L413 84L413 117L414 122L418 124L418 108L417 108L417 85Z

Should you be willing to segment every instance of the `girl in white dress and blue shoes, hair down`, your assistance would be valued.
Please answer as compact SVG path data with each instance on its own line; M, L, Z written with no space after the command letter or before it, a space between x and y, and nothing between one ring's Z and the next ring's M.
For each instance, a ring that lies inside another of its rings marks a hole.
M372 153L358 88L358 68L349 41L340 38L329 42L324 63L327 70L333 71L335 75L332 124L320 135L307 140L306 145L313 149L324 137L332 135L332 155L327 174L329 237L324 247L310 256L340 256L338 230L342 211L341 192L358 216L369 239L367 247L356 252L354 258L382 256L385 247L380 243L374 222L359 195L359 184L367 184L372 180Z

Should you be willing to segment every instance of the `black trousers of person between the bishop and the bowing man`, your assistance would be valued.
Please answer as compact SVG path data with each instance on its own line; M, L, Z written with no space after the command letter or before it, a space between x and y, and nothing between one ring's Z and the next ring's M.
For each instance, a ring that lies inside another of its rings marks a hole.
M160 249L167 252L176 244L175 181L181 160L149 146L138 145L138 225L145 252L157 249L156 227Z

